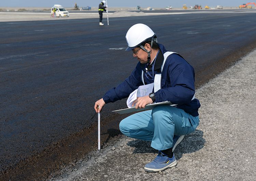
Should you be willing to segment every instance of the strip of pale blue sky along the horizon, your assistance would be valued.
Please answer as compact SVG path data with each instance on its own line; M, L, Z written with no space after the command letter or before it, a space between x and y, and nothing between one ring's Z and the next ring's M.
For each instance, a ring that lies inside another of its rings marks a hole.
M256 0L255 0L256 1ZM0 0L0 7L52 7L54 4L61 4L63 7L73 7L75 3L79 7L97 7L101 0ZM250 1L248 1L250 2ZM107 0L108 6L112 7L155 7L164 8L166 6L182 7L183 4L187 6L194 6L199 4L202 7L208 5L215 7L222 6L239 6L247 3L245 0Z

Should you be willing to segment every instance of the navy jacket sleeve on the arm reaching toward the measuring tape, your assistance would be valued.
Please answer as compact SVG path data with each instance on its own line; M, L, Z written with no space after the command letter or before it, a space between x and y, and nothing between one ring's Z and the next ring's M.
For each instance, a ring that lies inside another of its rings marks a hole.
M135 89L138 89L139 86L143 85L141 80L141 67L140 62L137 64L136 68L132 71L131 75L125 79L117 87L110 89L102 97L105 103L115 102L117 100L124 99L129 97Z

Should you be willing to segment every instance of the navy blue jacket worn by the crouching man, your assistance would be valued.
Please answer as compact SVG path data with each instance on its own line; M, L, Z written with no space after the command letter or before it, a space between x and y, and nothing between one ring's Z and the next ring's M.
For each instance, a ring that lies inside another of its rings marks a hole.
M161 73L163 54L167 51L163 45L158 44L158 46L160 51L152 63L152 65L154 64L154 75ZM109 103L124 99L143 85L141 73L144 67L145 64L138 62L136 68L124 82L105 93L102 97L104 102ZM152 70L149 73L152 75ZM154 82L150 76L147 76L148 78L145 76L145 72L143 77L145 84ZM161 89L155 92L155 102L170 101L173 104L178 104L177 108L183 109L190 115L198 116L200 103L197 99L191 101L194 94L195 72L193 67L180 55L169 55L162 70Z

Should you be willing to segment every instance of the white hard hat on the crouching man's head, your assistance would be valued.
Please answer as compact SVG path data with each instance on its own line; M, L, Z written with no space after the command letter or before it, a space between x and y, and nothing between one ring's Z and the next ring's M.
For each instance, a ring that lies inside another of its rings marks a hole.
M144 24L136 24L133 25L126 33L126 41L128 44L128 48L126 48L126 51L130 51L133 48L139 46L146 40L154 38L156 33L152 31L150 27Z

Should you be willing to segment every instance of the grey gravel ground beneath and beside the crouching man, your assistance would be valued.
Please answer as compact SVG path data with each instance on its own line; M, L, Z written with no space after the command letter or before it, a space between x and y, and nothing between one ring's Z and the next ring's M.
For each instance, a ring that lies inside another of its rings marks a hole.
M48 180L256 180L255 58L256 50L197 90L200 124L175 149L175 167L145 172L157 151L118 135Z

